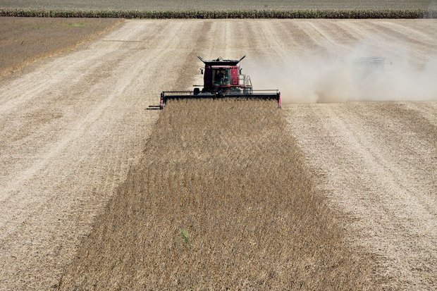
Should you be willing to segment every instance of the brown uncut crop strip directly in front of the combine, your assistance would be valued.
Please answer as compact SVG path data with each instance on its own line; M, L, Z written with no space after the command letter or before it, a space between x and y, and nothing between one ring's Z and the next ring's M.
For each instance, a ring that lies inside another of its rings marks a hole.
M273 101L171 101L60 290L365 290Z

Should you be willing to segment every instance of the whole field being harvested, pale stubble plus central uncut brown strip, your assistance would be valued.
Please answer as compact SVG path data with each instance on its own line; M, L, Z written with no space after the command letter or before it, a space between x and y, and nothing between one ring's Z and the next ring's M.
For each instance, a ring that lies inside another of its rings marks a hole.
M0 290L435 290L435 101L148 109L197 55L421 68L436 24L126 20L0 80Z

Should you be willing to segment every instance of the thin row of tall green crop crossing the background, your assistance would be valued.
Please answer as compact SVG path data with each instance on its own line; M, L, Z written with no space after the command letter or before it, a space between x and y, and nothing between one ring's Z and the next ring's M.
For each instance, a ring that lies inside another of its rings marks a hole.
M61 18L437 18L437 11L422 9L252 10L252 11L68 11L0 9L0 16Z

